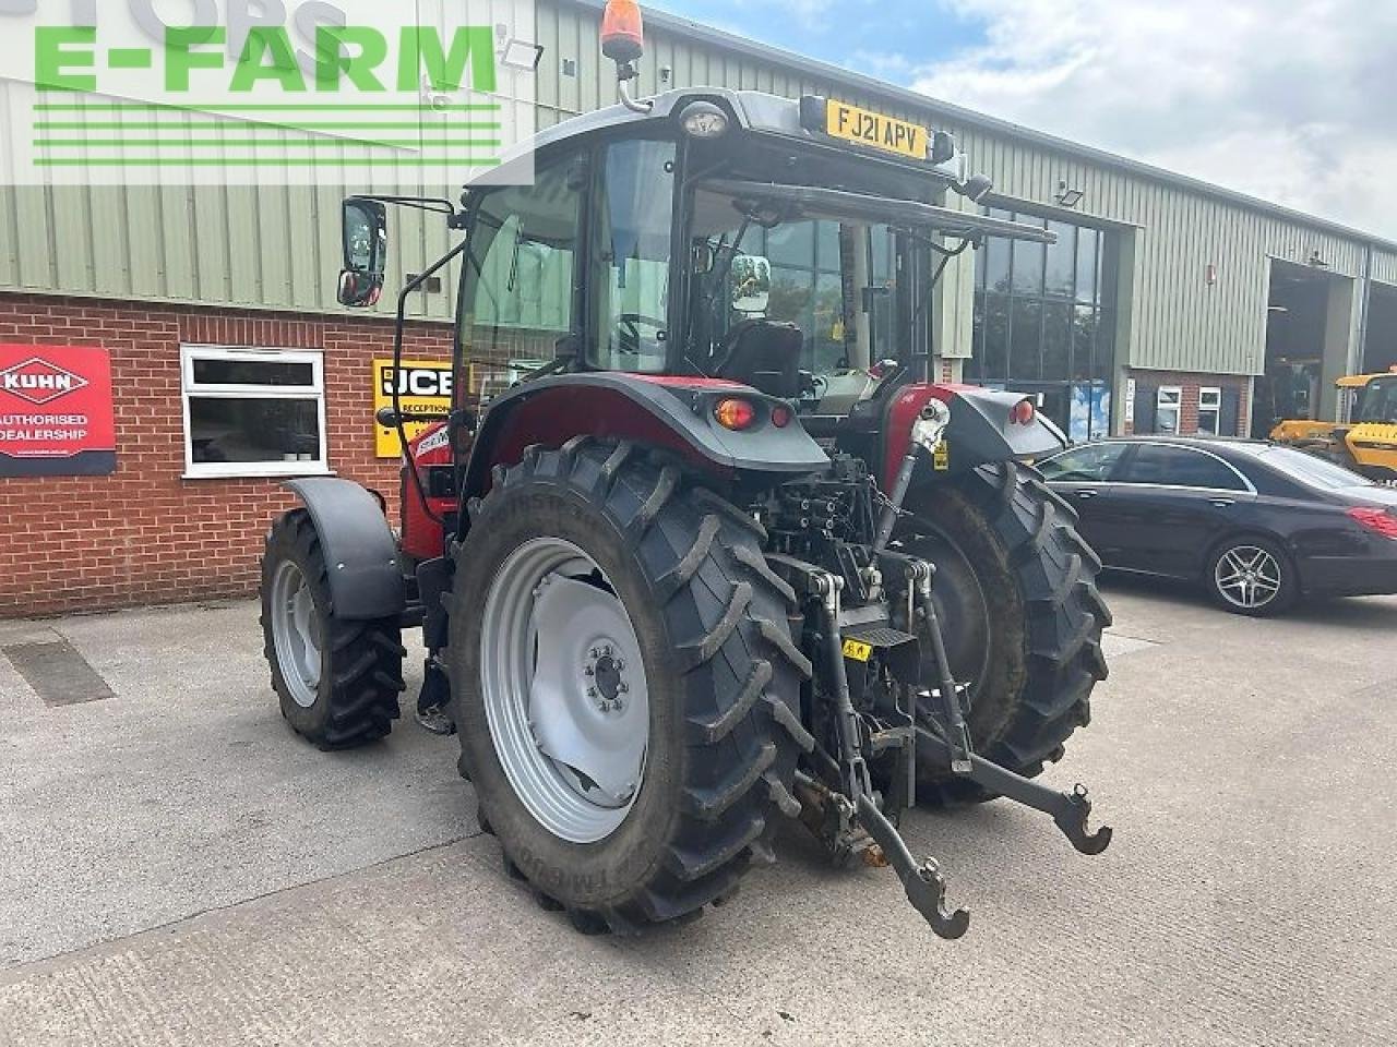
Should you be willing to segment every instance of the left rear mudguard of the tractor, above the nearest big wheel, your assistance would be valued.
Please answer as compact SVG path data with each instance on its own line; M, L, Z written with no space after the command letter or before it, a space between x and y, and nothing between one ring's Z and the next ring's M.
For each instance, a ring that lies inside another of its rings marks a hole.
M742 433L724 429L712 413L718 401L732 395L757 408L757 423ZM784 427L771 423L777 406L787 405L718 378L608 371L525 383L490 405L471 454L465 493L485 494L495 466L518 462L527 447L562 447L577 436L661 447L724 476L785 477L826 468L828 455L798 419Z

